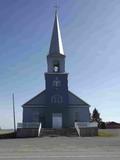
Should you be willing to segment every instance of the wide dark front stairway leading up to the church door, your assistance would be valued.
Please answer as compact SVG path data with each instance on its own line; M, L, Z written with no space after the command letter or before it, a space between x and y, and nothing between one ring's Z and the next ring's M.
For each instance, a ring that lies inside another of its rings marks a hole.
M77 137L78 133L75 128L42 128L40 132L40 137L57 137L57 136L67 136L67 137Z

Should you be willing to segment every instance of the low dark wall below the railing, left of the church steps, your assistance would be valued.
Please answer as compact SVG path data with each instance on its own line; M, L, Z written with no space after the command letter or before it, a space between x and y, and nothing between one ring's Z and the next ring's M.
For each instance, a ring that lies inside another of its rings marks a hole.
M17 138L25 138L25 137L37 137L38 136L38 128L18 128L17 129Z

